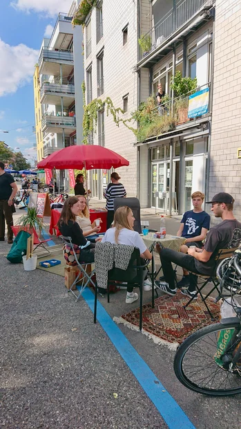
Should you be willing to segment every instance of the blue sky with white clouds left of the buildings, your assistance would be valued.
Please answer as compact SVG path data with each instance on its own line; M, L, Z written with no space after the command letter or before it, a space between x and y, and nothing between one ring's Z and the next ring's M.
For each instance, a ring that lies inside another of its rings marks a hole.
M50 35L57 13L68 12L71 3L72 0L1 1L0 140L20 149L31 163L32 158L37 158L32 147L32 75L44 34ZM3 134L5 130L9 130L8 134Z

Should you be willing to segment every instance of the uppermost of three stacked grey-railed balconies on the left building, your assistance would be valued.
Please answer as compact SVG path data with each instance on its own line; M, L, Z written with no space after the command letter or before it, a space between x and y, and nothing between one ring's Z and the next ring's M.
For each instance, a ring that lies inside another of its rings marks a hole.
M73 49L48 49L42 48L39 55L39 74L59 75L60 64L62 74L68 76L73 70Z

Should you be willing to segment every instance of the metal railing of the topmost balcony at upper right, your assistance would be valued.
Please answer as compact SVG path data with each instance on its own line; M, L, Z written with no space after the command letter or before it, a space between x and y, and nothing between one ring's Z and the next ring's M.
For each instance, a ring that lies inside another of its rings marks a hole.
M173 8L151 28L146 35L142 36L141 57L153 51L171 36L186 21L205 4L211 6L214 0L183 0L177 3L176 24L173 19Z

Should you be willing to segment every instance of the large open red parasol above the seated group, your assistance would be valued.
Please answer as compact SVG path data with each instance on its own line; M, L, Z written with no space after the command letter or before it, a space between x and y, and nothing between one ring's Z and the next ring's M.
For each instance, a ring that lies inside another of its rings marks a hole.
M110 170L111 167L117 168L129 165L129 162L123 156L98 145L77 145L64 147L48 158L38 163L38 168L57 168L58 170L74 169L92 170L93 168L104 168Z

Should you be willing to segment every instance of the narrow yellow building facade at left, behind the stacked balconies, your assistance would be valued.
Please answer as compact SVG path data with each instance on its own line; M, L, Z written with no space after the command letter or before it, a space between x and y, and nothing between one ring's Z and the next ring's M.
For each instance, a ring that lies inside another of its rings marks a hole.
M37 161L44 158L44 141L42 132L42 109L40 103L40 82L39 82L39 66L35 66L35 74L33 75L33 88L35 95L35 130L36 130L36 145L37 145Z

